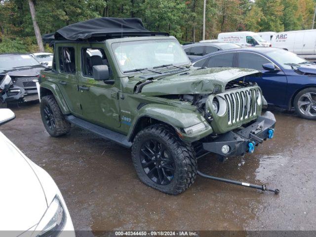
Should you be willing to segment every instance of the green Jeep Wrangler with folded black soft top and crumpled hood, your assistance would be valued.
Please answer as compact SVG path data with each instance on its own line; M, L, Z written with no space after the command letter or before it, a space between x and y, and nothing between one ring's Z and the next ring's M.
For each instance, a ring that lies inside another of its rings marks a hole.
M272 138L254 70L194 68L179 42L140 19L98 18L47 36L51 69L40 75L40 114L54 137L71 124L126 148L139 178L167 194L188 189L197 158L252 153Z

